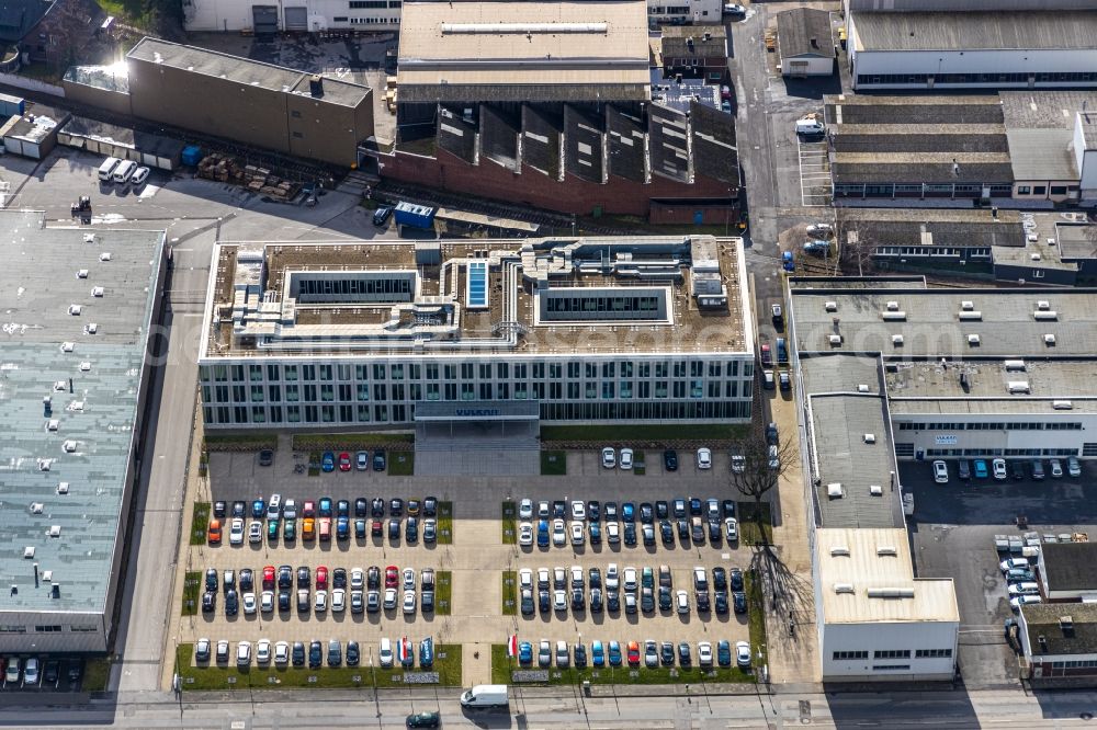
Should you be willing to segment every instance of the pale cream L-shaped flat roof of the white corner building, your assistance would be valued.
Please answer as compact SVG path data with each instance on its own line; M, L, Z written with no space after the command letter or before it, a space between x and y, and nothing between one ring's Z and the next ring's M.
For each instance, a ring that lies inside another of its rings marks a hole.
M959 623L951 578L915 578L906 529L815 531L827 624Z

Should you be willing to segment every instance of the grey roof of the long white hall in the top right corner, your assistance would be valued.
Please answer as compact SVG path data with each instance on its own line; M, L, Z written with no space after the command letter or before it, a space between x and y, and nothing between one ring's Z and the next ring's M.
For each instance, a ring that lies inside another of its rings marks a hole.
M858 50L1097 48L1097 12L852 12Z

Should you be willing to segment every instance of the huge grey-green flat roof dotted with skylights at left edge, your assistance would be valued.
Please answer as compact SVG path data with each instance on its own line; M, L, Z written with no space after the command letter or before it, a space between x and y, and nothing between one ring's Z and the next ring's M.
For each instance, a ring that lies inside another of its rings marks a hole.
M43 225L0 213L0 612L103 612L163 232Z

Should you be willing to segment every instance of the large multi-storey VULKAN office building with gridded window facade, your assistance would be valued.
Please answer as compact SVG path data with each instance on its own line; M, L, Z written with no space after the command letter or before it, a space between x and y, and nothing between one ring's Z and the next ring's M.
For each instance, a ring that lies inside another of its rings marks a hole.
M408 427L439 409L468 425L518 407L534 425L747 423L742 247L222 244L199 357L206 427Z

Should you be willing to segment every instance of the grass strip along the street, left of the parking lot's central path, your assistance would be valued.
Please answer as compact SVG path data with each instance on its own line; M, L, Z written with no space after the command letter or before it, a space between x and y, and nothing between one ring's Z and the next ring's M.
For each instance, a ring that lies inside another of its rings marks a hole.
M236 645L231 645L234 652ZM261 668L249 666L239 669L230 663L225 666L194 666L194 645L181 643L176 650L176 668L182 680L184 691L220 691L220 689L284 689L286 687L321 688L355 688L370 687L374 682L378 687L403 687L403 669L380 669L371 672L369 665L370 649L362 647L363 664L361 666L323 666L308 669L305 666ZM325 652L327 648L325 648ZM418 654L418 645L416 645ZM374 652L376 653L376 652ZM439 673L439 684L448 687L461 686L461 645L436 643L434 666L431 671ZM412 671L420 671L418 666Z

